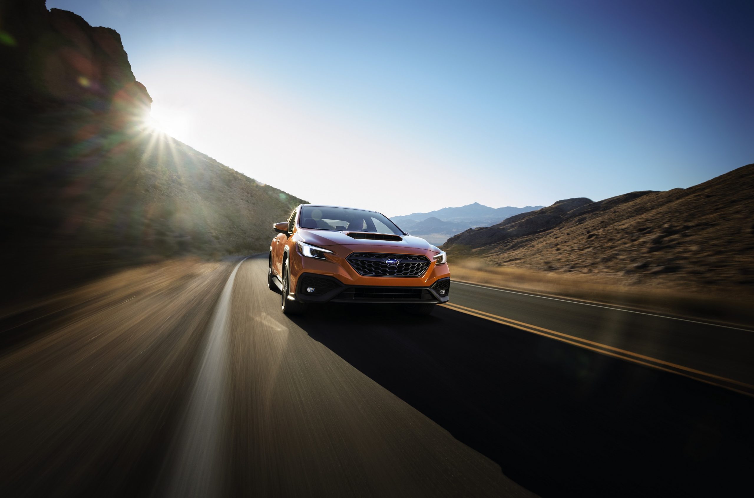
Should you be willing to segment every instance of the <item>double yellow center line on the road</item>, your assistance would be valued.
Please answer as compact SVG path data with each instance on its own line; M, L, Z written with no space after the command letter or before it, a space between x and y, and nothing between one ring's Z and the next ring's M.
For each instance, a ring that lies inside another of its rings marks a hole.
M719 375L715 374L709 374L701 370L695 370L694 368L684 367L683 365L671 363L670 361L651 358L651 356L639 355L639 353L627 351L626 349L620 349L614 346L608 346L607 344L596 343L591 340L582 339L581 337L563 334L562 332L556 332L555 330L537 327L536 325L526 324L523 321L516 321L511 318L505 318L503 316L492 315L492 313L483 312L478 309L467 308L466 306L461 306L455 303L445 303L441 304L440 306L444 306L448 309L453 309L457 312L466 313L467 315L476 316L477 318L494 321L498 324L507 325L508 327L515 327L519 330L525 330L526 332L530 332L532 334L559 340L562 343L569 343L573 346L589 349L590 351L598 352L601 355L613 356L624 361L631 361L633 363L645 365L646 367L656 368L657 370L664 370L666 372L670 372L671 374L682 375L690 379L699 380L703 383L712 384L713 386L720 386L725 389L730 389L731 391L739 392L743 395L754 397L754 386L740 382L738 380L720 377Z

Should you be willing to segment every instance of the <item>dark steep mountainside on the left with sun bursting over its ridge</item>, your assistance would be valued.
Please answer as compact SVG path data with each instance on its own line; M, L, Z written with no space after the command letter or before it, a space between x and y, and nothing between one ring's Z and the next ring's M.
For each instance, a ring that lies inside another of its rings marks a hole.
M6 289L267 249L302 199L146 128L152 99L117 32L43 0L0 8Z

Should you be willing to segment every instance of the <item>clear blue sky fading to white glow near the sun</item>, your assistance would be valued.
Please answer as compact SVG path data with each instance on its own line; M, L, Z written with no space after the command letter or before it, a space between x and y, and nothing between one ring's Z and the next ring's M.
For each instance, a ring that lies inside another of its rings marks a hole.
M388 216L688 187L754 162L754 3L48 0L120 34L152 118Z

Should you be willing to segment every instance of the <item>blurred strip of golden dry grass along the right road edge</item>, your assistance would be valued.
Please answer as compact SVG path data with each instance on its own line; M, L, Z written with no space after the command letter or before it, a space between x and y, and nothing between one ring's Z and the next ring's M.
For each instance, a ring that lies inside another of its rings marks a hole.
M715 319L736 324L754 323L751 302L737 294L690 292L683 287L627 284L624 275L542 272L492 266L467 258L452 263L452 278L469 283L504 287L598 303L617 304L649 312Z

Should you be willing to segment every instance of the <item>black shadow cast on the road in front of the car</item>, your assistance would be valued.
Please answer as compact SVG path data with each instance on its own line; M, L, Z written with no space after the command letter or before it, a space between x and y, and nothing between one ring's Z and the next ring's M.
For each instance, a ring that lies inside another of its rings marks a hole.
M708 496L746 484L754 399L744 395L442 307L418 317L331 304L293 320L541 496Z

